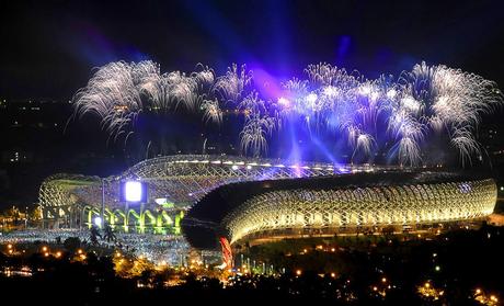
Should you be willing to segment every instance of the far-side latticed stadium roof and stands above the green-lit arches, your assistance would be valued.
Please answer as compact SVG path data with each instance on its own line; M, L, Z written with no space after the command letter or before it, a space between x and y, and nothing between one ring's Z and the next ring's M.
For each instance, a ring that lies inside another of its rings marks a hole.
M191 206L209 191L227 183L330 175L368 168L318 162L290 165L279 159L232 156L165 156L138 162L118 175L105 178L105 202L108 207L118 206L118 184L131 179L148 184L151 203L157 197L165 197L173 203ZM101 179L98 177L55 174L42 183L39 204L46 217L58 217L67 214L76 204L100 205L101 189ZM70 197L72 201L68 201Z

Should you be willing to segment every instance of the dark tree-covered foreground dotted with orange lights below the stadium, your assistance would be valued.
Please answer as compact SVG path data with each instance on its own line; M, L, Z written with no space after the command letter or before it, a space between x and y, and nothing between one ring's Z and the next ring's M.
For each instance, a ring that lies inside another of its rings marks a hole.
M332 252L319 246L295 254L275 248L251 249L251 256L262 252L270 262L285 267L285 273L233 274L225 283L199 272L148 265L125 277L118 273L113 256L89 253L85 260L73 260L69 251L57 258L43 253L14 257L2 246L0 271L4 273L0 274L0 292L2 301L12 301L12 305L160 305L199 301L209 305L274 301L500 305L504 294L503 236L503 228L484 225L432 240L370 243L363 238L355 248L346 246ZM32 273L8 276L5 269L30 269Z

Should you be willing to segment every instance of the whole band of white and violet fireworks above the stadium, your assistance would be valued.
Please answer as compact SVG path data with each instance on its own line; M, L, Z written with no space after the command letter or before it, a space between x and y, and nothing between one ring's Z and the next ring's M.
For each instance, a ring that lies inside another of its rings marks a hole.
M447 137L462 162L480 155L474 133L481 116L502 105L496 84L443 65L415 65L394 80L368 80L329 64L309 65L306 79L284 83L283 94L263 99L253 86L253 73L232 65L222 76L203 65L196 71L161 73L158 64L111 63L100 67L73 99L78 117L101 118L102 128L117 139L131 136L133 123L142 113L164 114L185 110L199 113L205 123L220 124L225 111L243 116L240 147L259 157L267 151L272 134L285 123L346 139L352 156L373 159L388 151L404 166L422 162L424 144Z

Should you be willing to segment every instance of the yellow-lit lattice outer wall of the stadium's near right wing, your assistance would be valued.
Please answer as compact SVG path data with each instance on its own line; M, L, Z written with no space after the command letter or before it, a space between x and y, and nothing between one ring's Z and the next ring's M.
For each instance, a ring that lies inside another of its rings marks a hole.
M461 189L470 186L467 191ZM491 179L333 190L273 191L254 196L225 219L231 243L248 236L321 234L357 227L416 226L490 215L496 185Z

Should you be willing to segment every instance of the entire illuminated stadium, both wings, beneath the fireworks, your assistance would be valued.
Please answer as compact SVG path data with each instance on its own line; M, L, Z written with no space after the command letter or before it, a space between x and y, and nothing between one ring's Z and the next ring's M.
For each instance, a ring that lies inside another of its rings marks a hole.
M119 201L128 180L147 184L146 203ZM495 182L481 174L204 155L153 158L108 178L55 174L39 190L48 227L103 215L122 231L183 233L197 248L472 222L495 202Z

